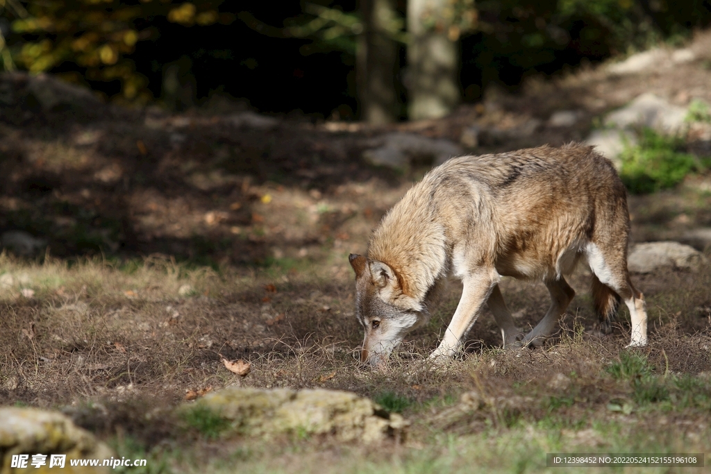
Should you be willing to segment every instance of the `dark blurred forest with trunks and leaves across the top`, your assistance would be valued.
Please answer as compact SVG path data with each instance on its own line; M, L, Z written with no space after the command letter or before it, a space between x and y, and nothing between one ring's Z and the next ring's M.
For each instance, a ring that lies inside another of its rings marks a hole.
M711 21L708 0L0 0L4 70L121 104L372 123L440 117ZM298 113L298 112L297 112Z

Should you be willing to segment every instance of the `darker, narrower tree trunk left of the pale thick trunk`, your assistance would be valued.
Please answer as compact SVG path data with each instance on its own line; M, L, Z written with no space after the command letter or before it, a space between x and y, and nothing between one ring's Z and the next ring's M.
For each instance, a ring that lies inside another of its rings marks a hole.
M397 14L395 0L361 0L360 11L363 34L358 41L356 58L360 119L370 124L394 122L398 111L397 43L387 28Z

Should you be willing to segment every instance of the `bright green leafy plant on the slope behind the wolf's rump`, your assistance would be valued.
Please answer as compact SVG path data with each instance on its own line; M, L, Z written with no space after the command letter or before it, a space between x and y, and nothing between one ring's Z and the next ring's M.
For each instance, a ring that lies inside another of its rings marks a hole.
M683 139L644 129L639 144L626 144L621 153L620 178L636 194L672 188L699 167L695 156L683 149Z

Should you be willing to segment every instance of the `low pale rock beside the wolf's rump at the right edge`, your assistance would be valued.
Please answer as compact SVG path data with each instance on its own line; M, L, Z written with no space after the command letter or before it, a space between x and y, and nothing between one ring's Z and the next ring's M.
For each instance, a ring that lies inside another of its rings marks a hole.
M697 270L708 264L693 247L679 242L646 242L632 246L627 267L634 273L652 273L665 268Z

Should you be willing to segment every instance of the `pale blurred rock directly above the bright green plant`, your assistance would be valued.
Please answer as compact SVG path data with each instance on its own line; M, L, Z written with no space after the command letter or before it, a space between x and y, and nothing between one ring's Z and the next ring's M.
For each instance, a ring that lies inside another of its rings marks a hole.
M685 125L686 109L646 92L605 119L606 126L629 129L646 126L662 134L675 134Z

